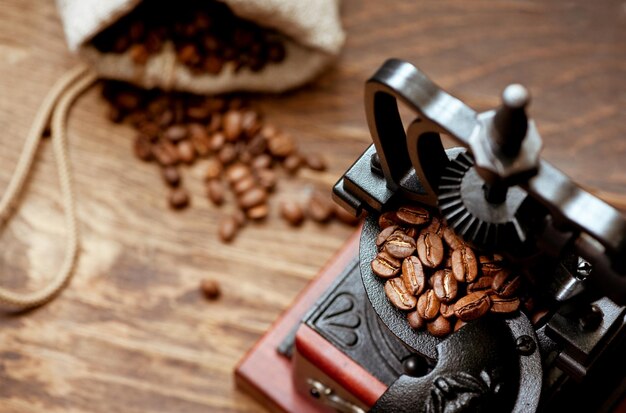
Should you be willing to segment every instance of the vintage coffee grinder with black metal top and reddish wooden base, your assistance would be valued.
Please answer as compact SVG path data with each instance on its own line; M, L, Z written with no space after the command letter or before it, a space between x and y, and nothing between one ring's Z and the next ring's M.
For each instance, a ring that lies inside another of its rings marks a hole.
M528 91L476 113L413 65L366 83L373 145L334 188L358 234L242 360L240 387L275 411L626 411L626 220L539 157ZM398 105L417 115L403 126ZM444 149L440 134L458 147ZM372 274L380 212L438 208L464 240L530 268L548 303L445 339L412 330Z

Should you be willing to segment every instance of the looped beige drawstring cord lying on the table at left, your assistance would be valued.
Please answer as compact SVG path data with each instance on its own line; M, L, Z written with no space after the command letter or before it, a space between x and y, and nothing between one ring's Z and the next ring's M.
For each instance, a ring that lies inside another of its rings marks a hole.
M52 87L35 115L13 176L11 176L6 192L0 199L0 225L3 225L8 220L12 208L16 206L16 197L26 182L33 165L37 146L50 120L52 150L65 209L67 231L65 258L55 276L46 286L37 291L21 293L0 287L0 303L12 310L22 311L38 307L52 300L65 287L72 274L78 255L78 225L72 188L72 173L67 152L67 115L74 100L95 80L95 73L87 66L81 65L65 73ZM51 114L52 119L50 119Z

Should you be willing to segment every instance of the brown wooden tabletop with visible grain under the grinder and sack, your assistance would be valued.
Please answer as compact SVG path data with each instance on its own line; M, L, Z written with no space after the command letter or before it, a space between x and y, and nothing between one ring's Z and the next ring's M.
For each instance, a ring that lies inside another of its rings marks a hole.
M348 40L311 86L256 99L267 118L323 152L329 170L281 182L280 194L329 189L370 142L363 82L388 57L414 62L477 110L510 82L533 94L543 155L614 203L626 199L623 2L344 0ZM0 190L42 97L76 63L51 1L0 2ZM222 212L187 171L193 206L174 213L133 132L106 119L97 88L75 105L70 151L82 253L52 304L0 317L2 412L251 412L235 363L353 231L290 229L277 217L222 245ZM50 143L22 207L0 235L0 282L35 288L58 268L63 215ZM198 283L221 281L217 302Z

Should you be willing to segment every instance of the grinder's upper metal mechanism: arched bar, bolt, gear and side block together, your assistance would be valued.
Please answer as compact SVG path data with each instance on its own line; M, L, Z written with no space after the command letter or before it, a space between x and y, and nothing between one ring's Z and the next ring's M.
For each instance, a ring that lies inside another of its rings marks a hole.
M406 133L398 100L417 114ZM477 113L415 66L390 59L365 86L373 147L337 182L334 198L356 215L380 212L392 198L438 206L477 247L572 251L593 265L589 283L624 304L626 220L539 157L529 101L523 86L510 85L498 109ZM440 133L470 156L449 159Z

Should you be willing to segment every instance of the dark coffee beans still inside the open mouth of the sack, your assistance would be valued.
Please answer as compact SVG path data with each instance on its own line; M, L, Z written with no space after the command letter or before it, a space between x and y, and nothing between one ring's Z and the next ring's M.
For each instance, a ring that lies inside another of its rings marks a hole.
M96 35L92 44L103 53L129 53L138 65L172 42L176 57L194 73L219 74L232 70L258 72L285 58L285 45L275 31L233 14L227 5L211 0L177 3L150 0Z

